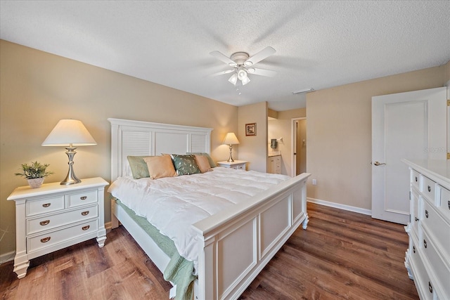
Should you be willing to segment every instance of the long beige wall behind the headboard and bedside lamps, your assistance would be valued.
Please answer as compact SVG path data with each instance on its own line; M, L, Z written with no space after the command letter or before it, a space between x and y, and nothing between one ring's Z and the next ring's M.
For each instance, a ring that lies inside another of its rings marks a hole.
M41 147L59 119L82 120L97 142L77 149L75 174L79 178L101 176L107 181L108 117L212 127L215 160L228 158L229 149L221 141L226 132L238 131L236 106L3 40L0 78L0 261L10 258L15 250L14 202L6 198L15 187L27 185L25 179L13 175L20 164L34 160L49 163L55 174L46 182L61 181L67 174L65 149ZM265 134L264 125L258 129ZM233 151L238 157L238 149ZM105 221L110 221L109 202L105 204Z

